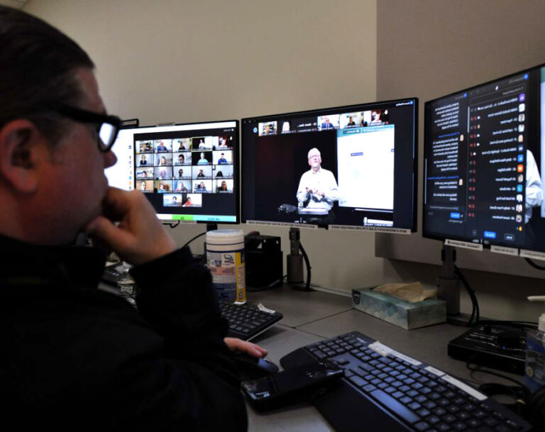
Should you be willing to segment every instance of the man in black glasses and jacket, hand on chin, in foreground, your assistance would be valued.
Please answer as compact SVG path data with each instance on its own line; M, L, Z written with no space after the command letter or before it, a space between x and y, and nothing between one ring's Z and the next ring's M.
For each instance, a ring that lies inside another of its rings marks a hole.
M108 187L119 118L72 40L0 6L0 394L16 430L244 431L206 267L139 191ZM119 222L115 225L114 222ZM104 252L133 264L138 311L97 290ZM229 348L228 348L229 345Z

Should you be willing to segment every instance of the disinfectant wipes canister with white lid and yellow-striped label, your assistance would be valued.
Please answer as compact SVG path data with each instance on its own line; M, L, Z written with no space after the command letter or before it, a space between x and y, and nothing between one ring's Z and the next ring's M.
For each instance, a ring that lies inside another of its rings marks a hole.
M243 231L208 231L207 262L218 298L246 301Z

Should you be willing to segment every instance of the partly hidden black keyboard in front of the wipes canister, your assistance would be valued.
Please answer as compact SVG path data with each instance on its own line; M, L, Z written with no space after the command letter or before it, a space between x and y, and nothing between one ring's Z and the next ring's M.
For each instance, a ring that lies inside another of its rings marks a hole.
M250 340L282 319L280 312L263 311L254 304L220 301L221 315L229 321L230 338Z

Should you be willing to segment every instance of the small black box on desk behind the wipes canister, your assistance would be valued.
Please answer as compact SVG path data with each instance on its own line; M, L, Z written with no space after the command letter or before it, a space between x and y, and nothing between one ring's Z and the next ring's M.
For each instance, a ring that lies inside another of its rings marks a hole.
M282 248L280 237L246 236L246 286L275 287L282 284Z

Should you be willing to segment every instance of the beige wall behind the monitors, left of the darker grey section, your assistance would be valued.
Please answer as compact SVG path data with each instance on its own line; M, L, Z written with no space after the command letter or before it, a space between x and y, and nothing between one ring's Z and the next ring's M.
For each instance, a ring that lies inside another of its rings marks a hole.
M143 125L375 100L376 0L31 0L24 10L77 40L109 111ZM258 229L289 253L287 229ZM202 230L172 232L181 245ZM384 282L374 240L303 230L313 282Z

